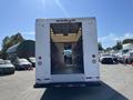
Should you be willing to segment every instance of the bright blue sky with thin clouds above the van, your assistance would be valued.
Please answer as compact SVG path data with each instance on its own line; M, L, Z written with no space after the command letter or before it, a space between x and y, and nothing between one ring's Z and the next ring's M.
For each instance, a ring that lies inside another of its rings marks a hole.
M133 38L133 0L0 0L0 44L17 32L34 40L37 18L80 17L96 18L103 48Z

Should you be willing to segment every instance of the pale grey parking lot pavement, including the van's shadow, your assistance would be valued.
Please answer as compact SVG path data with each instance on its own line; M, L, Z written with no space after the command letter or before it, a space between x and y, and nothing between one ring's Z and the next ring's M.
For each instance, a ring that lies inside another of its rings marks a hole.
M133 100L133 67L100 64L99 87L33 89L33 71L0 77L0 100Z

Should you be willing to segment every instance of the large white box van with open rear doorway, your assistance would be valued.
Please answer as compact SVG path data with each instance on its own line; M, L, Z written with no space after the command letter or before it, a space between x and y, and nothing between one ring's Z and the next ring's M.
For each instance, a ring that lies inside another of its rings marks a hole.
M35 88L100 82L95 18L37 19Z

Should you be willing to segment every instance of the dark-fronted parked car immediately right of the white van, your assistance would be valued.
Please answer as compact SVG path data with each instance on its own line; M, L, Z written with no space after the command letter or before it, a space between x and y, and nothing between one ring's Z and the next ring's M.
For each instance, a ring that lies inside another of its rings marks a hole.
M114 63L116 63L115 61L114 61L114 59L113 59L113 57L102 57L101 58L101 63L103 63L103 64L114 64Z

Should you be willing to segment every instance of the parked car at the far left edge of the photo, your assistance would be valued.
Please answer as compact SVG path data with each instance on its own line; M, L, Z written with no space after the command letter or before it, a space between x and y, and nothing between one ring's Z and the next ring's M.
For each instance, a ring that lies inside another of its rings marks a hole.
M0 59L0 74L11 74L14 73L14 66L10 60Z

